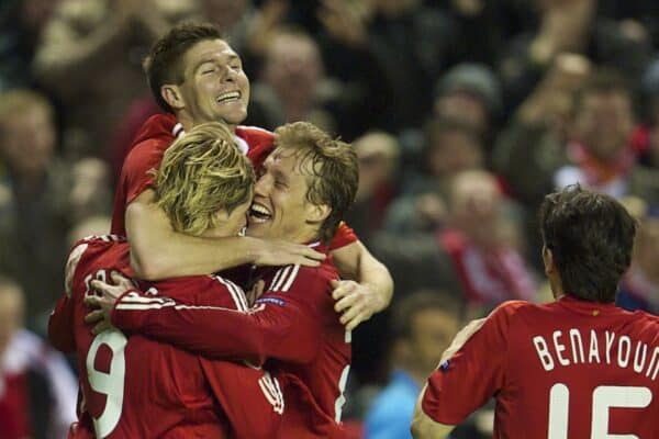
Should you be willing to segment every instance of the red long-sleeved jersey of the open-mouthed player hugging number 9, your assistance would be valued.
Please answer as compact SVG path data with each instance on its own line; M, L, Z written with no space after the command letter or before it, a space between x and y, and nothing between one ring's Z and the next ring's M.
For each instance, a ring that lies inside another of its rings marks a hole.
M342 438L350 333L334 312L330 281L338 274L331 259L317 268L265 269L260 277L267 292L246 314L181 306L174 297L136 307L145 296L131 291L116 302L112 322L210 358L270 359L266 364L287 376L287 409L277 437Z

